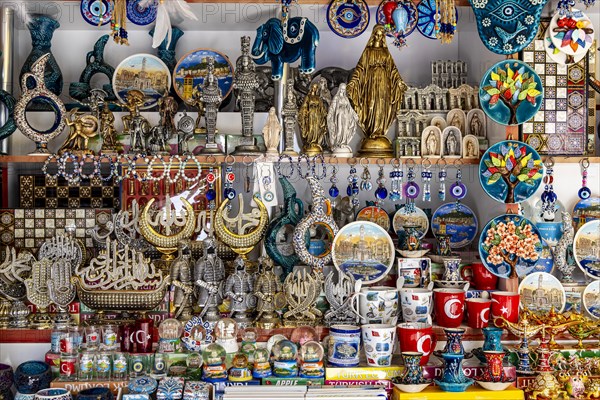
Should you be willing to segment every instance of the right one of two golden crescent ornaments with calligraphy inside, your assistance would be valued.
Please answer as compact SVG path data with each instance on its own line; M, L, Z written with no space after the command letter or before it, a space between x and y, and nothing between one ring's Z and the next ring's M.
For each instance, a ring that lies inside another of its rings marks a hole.
M244 214L244 197L238 195L239 212L233 218L225 214L229 199L225 199L215 214L215 234L217 238L231 247L236 254L247 260L247 254L263 238L269 223L267 207L258 196L254 196L254 202L258 209L252 209L250 214ZM228 226L236 226L237 232L232 232ZM252 229L253 228L253 229Z

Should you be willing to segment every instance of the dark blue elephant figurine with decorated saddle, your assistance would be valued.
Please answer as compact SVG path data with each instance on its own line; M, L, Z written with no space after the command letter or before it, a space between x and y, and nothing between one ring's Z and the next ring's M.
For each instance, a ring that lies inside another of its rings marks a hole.
M307 18L294 17L285 22L271 18L256 30L252 58L262 65L271 61L271 79L280 80L283 64L300 58L301 74L315 71L315 52L319 30Z

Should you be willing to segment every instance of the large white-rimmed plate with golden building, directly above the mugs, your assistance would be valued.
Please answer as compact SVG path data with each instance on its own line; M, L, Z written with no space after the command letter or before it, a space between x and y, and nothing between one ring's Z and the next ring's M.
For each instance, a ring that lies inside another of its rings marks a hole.
M363 284L385 278L394 264L394 243L381 226L367 221L345 225L332 245L333 264Z

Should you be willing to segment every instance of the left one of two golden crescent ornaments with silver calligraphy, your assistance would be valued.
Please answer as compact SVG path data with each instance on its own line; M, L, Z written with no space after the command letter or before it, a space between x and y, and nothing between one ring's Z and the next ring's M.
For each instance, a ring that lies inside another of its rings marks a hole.
M183 228L177 233L171 234L170 226L163 225L164 221L162 218L157 218L161 221L161 225L165 228L166 233L162 234L156 231L156 229L150 224L150 207L154 204L154 200L150 199L150 201L146 204L144 209L142 210L142 214L140 215L140 233L150 244L154 245L158 251L163 254L163 260L170 261L173 260L173 253L177 251L177 247L179 246L179 242L182 239L187 239L194 233L196 229L196 218L194 214L194 209L192 205L184 198L181 199L183 206L185 208L186 214L183 216L185 222L181 225ZM167 207L165 207L164 215L167 216L167 221L174 221L174 213L175 210L171 210L171 204L168 201Z

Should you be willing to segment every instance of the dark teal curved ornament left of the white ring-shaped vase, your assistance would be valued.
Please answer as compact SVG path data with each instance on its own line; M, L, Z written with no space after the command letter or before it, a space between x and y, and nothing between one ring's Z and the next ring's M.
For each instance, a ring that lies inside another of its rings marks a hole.
M296 197L294 186L285 177L279 177L279 183L283 188L283 212L273 219L267 228L265 249L275 264L283 268L282 279L285 279L300 261L294 252L291 239L294 228L304 215L304 203ZM282 235L286 239L284 242L279 240Z

